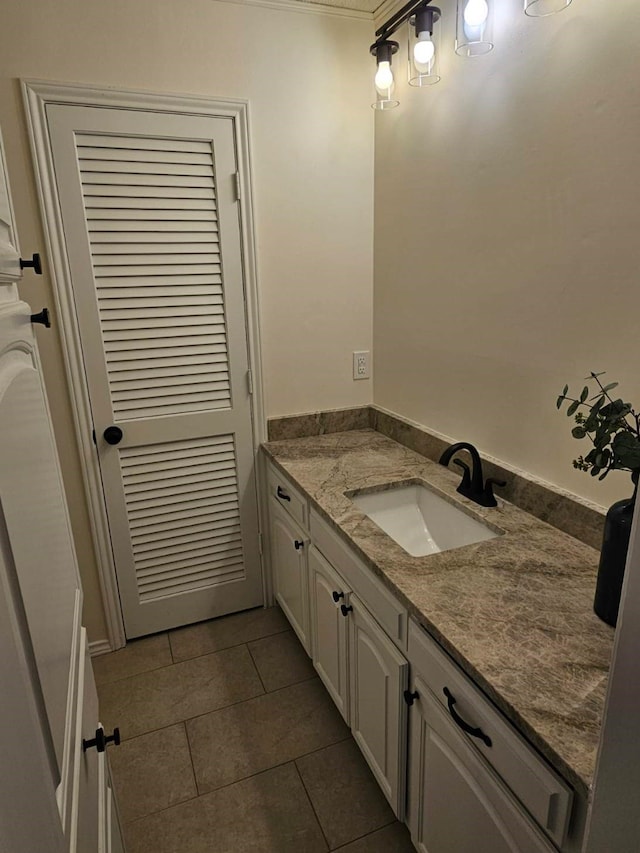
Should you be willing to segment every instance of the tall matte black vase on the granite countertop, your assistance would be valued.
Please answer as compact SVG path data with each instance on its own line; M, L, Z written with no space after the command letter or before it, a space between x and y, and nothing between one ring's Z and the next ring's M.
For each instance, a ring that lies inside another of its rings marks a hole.
M617 622L620 607L633 509L638 492L638 472L633 472L632 479L635 483L633 497L612 504L604 522L596 597L593 602L596 615L607 625L613 626Z

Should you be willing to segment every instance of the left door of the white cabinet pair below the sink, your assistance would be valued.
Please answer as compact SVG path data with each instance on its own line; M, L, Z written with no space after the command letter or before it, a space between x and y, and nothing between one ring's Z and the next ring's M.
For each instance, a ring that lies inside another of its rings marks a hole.
M348 724L348 622L340 606L348 604L349 590L314 547L309 551L309 590L313 665Z

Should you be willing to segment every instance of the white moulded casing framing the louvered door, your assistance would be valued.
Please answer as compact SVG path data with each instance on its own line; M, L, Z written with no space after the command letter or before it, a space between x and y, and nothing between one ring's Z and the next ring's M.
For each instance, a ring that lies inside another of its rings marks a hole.
M184 115L204 115L229 118L233 122L237 168L239 174L239 219L241 253L244 279L244 302L246 310L246 334L249 352L249 367L253 380L252 419L254 455L259 458L258 448L266 441L266 416L262 382L262 360L260 342L260 312L256 246L251 184L249 103L246 100L227 98L203 98L193 95L163 94L140 90L101 89L94 85L77 83L52 83L46 80L21 81L25 112L31 142L36 186L43 215L45 242L51 264L56 314L60 320L60 338L65 371L73 409L73 419L80 462L87 497L91 534L98 567L103 607L107 624L110 648L125 645L122 609L118 594L115 563L111 550L106 505L102 491L102 479L98 455L93 443L93 418L89 390L84 371L84 359L80 343L80 329L74 308L73 287L64 239L62 214L58 201L53 153L49 141L46 108L48 104L108 107L150 112L167 112ZM265 514L262 488L262 466L255 465L256 489L258 493L258 527L265 530ZM259 533L261 536L261 533ZM262 549L264 550L264 549ZM265 602L270 599L267 586L266 566L262 565ZM105 651L104 641L98 641Z

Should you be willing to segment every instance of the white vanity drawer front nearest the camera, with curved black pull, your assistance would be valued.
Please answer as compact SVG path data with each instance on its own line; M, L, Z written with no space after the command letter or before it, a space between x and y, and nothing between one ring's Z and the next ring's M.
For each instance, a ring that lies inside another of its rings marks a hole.
M462 670L413 619L409 622L412 678L420 674L436 699L448 708L445 688L455 700L454 712L491 740L468 740L484 756L547 835L561 847L567 833L573 792L566 782L522 738ZM453 715L452 715L453 716Z

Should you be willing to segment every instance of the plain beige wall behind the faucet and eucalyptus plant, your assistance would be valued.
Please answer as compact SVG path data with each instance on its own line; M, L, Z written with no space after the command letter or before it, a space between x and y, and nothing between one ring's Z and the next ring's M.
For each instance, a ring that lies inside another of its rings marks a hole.
M498 2L464 60L441 5L442 81L376 117L375 402L606 506L629 475L573 470L555 399L640 407L640 6Z

